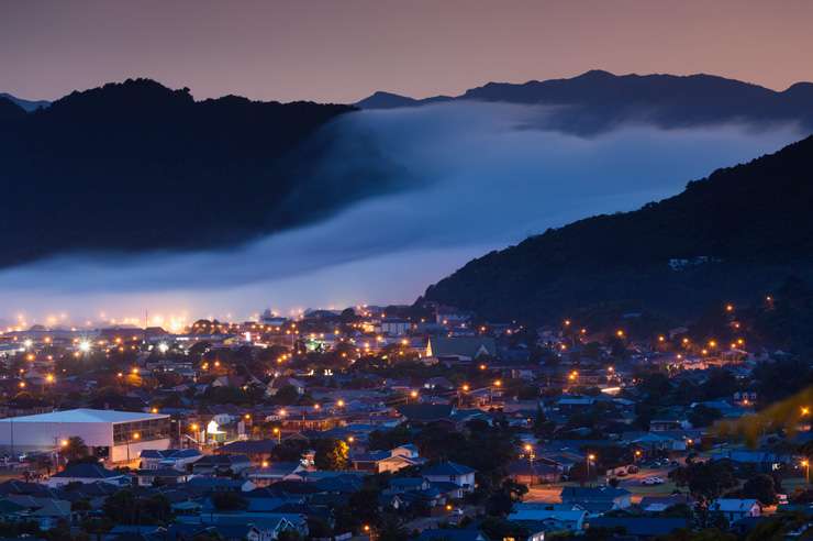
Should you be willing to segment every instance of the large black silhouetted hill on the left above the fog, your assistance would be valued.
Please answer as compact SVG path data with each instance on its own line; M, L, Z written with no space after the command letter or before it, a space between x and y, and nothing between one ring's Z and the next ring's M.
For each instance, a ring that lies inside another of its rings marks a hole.
M322 150L300 144L354 110L194 101L147 79L26 114L11 107L0 100L0 266L77 250L226 246L328 211L339 202L286 201Z

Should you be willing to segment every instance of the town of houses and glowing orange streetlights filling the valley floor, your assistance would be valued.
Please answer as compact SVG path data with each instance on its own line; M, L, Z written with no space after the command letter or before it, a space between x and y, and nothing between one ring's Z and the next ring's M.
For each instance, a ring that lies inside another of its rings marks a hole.
M751 346L734 305L719 312L714 336L645 333L639 314L530 329L432 302L171 332L9 328L3 512L89 533L249 523L275 538L483 517L535 539L631 520L668 532L700 503L710 521L770 516L808 494L813 397L764 409L791 395L776 385L793 361Z

